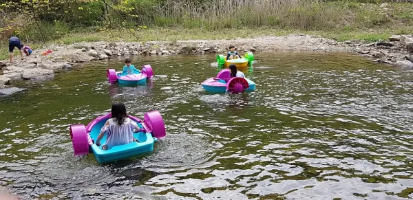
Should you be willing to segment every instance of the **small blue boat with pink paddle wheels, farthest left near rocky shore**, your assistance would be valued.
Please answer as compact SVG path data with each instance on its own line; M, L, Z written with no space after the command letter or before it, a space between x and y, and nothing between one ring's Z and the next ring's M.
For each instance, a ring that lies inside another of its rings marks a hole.
M153 71L151 65L143 65L142 71L135 71L134 74L122 74L122 71L107 69L107 80L109 80L109 83L118 82L123 85L140 85L152 77Z

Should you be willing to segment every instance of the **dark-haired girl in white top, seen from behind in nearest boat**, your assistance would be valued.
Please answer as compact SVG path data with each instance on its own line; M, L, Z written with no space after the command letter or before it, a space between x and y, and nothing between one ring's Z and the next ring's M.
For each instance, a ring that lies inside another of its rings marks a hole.
M96 145L100 146L100 140L102 140L105 133L107 133L107 138L106 144L102 146L103 150L131 142L138 142L134 138L134 132L139 130L138 124L128 118L125 104L116 102L112 104L112 118L107 120L102 129L100 129Z

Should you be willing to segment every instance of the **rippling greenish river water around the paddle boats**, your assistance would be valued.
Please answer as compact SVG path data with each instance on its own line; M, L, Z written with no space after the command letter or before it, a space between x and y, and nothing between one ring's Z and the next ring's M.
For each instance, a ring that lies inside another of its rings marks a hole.
M134 58L146 86L109 85L109 60L0 99L0 185L24 199L413 199L413 71L350 54L257 53L257 90L207 93L214 55ZM147 155L74 157L70 124L113 101L158 110Z

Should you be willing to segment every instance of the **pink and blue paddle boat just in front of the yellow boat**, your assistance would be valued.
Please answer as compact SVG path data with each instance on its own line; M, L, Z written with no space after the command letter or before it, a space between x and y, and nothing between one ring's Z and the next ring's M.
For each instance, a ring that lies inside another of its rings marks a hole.
M216 78L208 78L201 85L206 91L214 93L243 93L255 90L255 82L248 78L231 78L229 69L222 69Z

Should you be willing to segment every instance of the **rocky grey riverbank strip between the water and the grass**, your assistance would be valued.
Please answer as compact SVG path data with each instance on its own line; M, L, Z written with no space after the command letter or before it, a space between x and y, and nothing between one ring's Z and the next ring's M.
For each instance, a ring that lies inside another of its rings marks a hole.
M14 63L0 61L0 96L19 89L10 89L15 80L52 80L54 71L71 69L72 66L105 60L116 56L173 55L173 54L225 54L229 45L235 45L238 52L352 52L379 63L395 67L413 68L413 36L392 36L389 41L367 43L366 41L345 41L295 34L288 36L265 36L257 38L237 38L234 40L190 40L151 41L147 43L96 42L73 45L52 45L52 53L42 55L47 49L35 49L31 56ZM212 62L213 60L211 60ZM4 90L6 89L6 90Z

